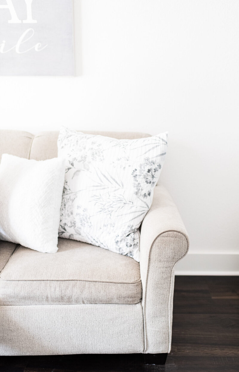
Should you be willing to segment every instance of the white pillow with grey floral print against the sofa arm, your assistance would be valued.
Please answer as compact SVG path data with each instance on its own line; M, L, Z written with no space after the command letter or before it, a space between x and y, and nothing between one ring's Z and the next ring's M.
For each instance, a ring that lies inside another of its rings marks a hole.
M168 133L116 140L62 128L66 159L59 235L139 261L139 226L148 212Z

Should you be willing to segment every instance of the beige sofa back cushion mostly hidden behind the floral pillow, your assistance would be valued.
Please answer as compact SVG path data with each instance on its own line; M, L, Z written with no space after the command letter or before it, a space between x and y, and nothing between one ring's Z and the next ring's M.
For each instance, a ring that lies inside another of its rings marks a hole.
M150 134L141 132L100 132L81 131L88 134L99 134L101 136L117 138L118 140L134 140L136 138L150 137ZM46 160L57 156L57 139L59 132L49 131L38 133L32 141L30 159Z

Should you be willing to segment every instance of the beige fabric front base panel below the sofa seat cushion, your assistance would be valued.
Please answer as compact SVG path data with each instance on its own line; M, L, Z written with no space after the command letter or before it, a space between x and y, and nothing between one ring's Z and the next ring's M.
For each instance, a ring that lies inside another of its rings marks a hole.
M140 303L1 306L0 314L0 355L143 352Z

